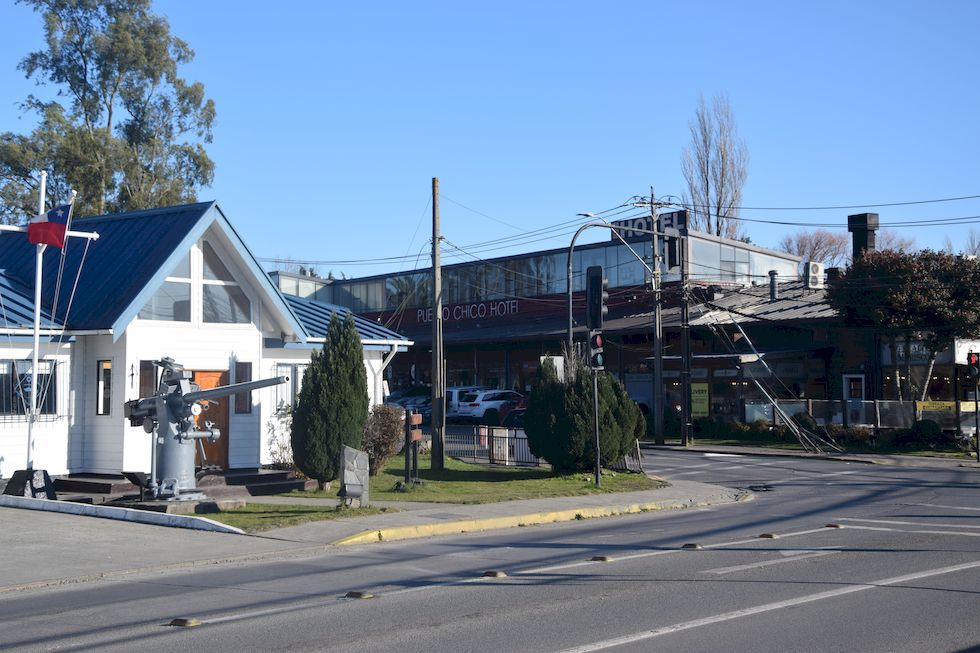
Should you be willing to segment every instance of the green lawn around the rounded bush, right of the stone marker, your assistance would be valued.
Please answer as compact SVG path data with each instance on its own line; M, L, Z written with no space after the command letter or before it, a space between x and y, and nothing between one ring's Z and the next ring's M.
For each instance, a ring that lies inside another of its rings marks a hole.
M405 462L396 458L370 479L372 501L431 501L439 503L495 503L516 499L571 497L610 492L655 490L664 483L644 474L604 470L601 488L595 487L593 474L578 472L556 475L548 468L474 465L446 458L441 472L430 469L428 456L419 457L421 485L396 490L405 480ZM289 492L291 497L333 497L337 490Z

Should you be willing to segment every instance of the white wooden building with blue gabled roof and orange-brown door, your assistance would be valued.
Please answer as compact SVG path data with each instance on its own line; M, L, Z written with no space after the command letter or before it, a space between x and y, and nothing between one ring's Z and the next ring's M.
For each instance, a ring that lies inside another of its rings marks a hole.
M330 317L346 309L284 297L214 202L80 218L72 229L100 238L69 239L64 256L50 247L45 254L34 467L148 472L150 436L129 425L123 405L154 393L153 361L163 357L204 388L290 376L206 413L222 429L206 447L208 464L270 462L268 424L292 402ZM0 234L0 478L27 461L34 261L24 234ZM369 399L381 403L385 367L412 343L355 321Z

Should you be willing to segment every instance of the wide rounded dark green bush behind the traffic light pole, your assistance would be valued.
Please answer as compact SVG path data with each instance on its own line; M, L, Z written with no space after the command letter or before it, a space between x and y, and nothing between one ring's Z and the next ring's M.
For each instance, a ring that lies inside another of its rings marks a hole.
M546 362L535 380L524 413L524 432L531 453L547 460L556 471L595 467L592 393L592 377L584 366L578 366L563 384L554 366ZM608 374L600 374L601 464L609 466L619 460L645 429L643 414L623 385Z

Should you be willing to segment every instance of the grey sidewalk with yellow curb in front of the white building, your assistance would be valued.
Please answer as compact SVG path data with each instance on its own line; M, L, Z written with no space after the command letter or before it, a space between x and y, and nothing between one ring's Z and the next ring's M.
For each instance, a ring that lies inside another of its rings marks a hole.
M249 560L305 557L343 545L520 525L733 503L751 495L693 481L644 492L494 504L374 502L398 512L310 522L259 535L161 528L130 520L0 507L0 594L122 578L137 573ZM335 504L331 499L261 497L264 503ZM32 499L28 501L43 501ZM57 503L57 502L56 502ZM119 509L127 510L127 509ZM128 510L130 513L142 511ZM142 513L146 514L146 513ZM190 517L188 519L195 519Z

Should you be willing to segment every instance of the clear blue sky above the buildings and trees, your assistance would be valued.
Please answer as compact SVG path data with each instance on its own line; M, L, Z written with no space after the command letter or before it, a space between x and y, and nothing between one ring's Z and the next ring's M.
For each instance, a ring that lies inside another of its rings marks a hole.
M3 1L0 131L28 132L16 105L37 89L16 65L40 48L41 22ZM728 94L751 156L747 207L980 195L969 0L154 6L196 51L184 77L217 105L201 199L217 199L260 258L318 261L323 274L424 267L432 177L447 263L567 247L577 213L651 185L680 196L702 94ZM843 230L865 210L919 247L980 231L980 200L742 217L770 221L747 232L774 246L793 225ZM901 224L916 220L927 224Z

